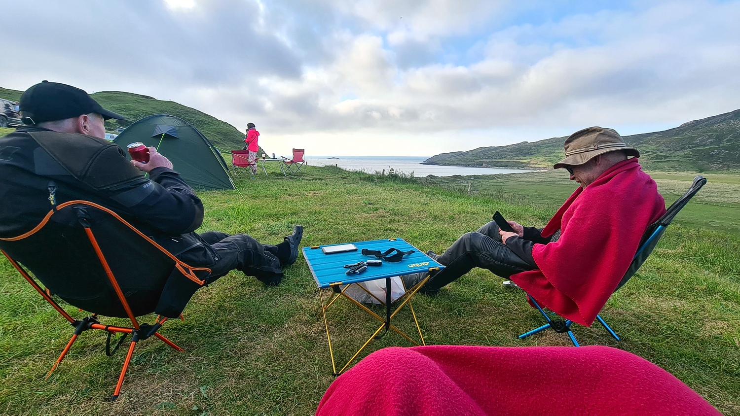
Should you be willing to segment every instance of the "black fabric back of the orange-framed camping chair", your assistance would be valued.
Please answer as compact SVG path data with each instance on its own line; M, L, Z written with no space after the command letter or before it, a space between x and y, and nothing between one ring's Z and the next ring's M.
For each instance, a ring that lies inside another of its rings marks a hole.
M80 209L90 217L90 229L134 316L154 312L175 262L106 211L90 205L61 208L41 230L19 241L0 241L0 248L67 303L103 316L126 318L78 220Z

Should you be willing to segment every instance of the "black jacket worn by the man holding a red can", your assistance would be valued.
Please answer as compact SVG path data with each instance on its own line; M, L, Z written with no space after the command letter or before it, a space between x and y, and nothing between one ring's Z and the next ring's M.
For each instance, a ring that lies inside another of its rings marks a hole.
M0 138L0 236L17 236L38 225L51 209L49 187L55 185L57 204L95 202L175 256L198 250L203 244L192 231L203 222L203 203L172 169L155 168L150 177L132 166L114 143L21 127ZM192 265L207 267L203 263L209 257Z

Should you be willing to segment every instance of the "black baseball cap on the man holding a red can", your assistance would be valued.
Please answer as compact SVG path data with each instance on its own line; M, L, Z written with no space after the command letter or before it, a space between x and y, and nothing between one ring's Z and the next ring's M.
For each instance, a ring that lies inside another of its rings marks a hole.
M102 115L104 120L125 119L101 107L87 92L66 83L41 81L21 95L21 121L30 126L91 112Z

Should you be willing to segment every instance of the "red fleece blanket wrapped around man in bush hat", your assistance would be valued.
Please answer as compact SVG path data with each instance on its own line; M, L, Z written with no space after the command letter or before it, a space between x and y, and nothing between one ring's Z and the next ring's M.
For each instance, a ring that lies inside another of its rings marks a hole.
M542 230L560 239L535 244L539 270L511 276L519 287L559 316L591 326L630 267L647 226L665 214L655 181L637 159L605 171L578 188Z

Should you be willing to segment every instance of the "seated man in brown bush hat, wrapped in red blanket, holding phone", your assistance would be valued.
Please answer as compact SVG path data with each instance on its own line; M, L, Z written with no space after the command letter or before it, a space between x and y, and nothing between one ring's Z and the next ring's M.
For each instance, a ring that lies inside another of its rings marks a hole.
M511 279L564 318L591 325L627 271L647 227L665 214L665 201L640 167L639 151L613 129L589 127L565 140L565 168L579 188L545 228L488 222L437 256L445 269L423 287L441 287L473 267ZM631 158L630 158L631 157Z

